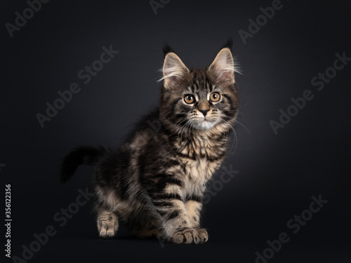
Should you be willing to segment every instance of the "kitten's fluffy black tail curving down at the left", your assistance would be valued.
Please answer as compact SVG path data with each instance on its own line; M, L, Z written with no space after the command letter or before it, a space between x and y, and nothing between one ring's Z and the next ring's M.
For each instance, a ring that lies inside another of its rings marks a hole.
M102 146L79 146L74 148L62 160L60 173L61 182L67 182L81 164L93 166L106 152L106 149Z

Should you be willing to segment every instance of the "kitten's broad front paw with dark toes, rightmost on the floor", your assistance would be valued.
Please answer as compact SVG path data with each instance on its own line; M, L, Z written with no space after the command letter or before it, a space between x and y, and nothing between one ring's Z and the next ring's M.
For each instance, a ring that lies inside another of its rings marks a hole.
M176 244L200 244L208 241L206 229L184 229L174 234L170 241Z

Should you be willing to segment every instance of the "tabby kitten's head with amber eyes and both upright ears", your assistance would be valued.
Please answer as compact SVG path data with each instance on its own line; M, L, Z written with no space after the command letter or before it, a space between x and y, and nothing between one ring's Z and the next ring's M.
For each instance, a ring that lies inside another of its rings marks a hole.
M211 65L188 69L170 48L165 50L160 117L176 130L230 130L239 98L234 60L222 48Z

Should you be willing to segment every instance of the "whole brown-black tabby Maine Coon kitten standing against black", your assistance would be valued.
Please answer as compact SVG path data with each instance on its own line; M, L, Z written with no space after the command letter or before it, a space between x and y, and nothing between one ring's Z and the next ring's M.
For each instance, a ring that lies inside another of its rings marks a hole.
M101 237L119 219L131 234L171 243L204 243L200 227L206 182L220 168L239 104L231 44L210 66L188 69L164 48L159 109L145 116L116 150L77 147L63 160L66 182L81 164L95 166L95 210ZM150 133L148 123L158 121Z

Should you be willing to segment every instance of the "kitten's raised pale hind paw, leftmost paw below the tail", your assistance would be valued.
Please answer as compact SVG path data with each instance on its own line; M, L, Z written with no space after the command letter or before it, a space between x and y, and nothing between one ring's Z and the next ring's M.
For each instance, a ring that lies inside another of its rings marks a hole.
M98 210L98 231L102 238L112 238L118 229L118 217L114 212L100 208Z

